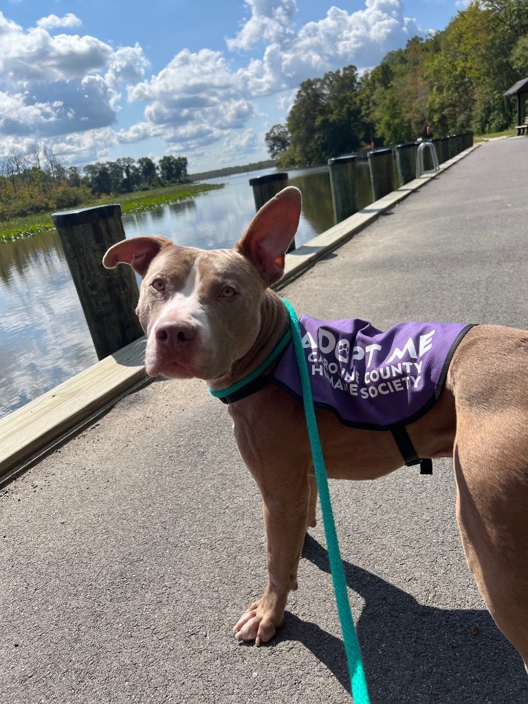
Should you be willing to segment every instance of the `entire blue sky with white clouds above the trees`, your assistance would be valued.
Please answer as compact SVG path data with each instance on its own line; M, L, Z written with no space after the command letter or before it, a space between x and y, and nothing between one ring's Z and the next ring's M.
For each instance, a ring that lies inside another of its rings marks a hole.
M298 85L363 72L465 0L0 0L0 163L169 154L189 173L269 158Z

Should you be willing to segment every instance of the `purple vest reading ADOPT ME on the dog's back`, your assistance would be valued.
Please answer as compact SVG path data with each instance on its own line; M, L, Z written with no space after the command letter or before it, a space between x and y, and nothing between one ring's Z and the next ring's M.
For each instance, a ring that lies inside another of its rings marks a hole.
M365 320L299 319L315 406L351 427L387 430L432 408L471 325L404 322L381 332ZM293 344L271 380L302 398Z

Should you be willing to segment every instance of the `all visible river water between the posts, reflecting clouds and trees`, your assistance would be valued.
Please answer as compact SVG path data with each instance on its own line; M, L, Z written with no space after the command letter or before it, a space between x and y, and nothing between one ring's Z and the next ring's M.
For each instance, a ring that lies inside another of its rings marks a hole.
M358 164L360 207L372 200L367 165ZM238 174L224 189L188 201L125 215L127 237L163 234L176 244L231 247L255 214L249 179ZM303 215L296 245L334 225L326 167L289 172L301 189ZM0 417L96 363L87 324L56 232L0 243Z

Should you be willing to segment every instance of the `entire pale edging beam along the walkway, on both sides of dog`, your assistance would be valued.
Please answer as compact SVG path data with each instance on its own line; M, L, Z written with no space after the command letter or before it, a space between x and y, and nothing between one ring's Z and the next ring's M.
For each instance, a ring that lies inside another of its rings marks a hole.
M287 254L284 277L273 288L282 289L301 276L327 253L478 146L475 144L460 152L441 164L438 172L429 172L410 181ZM141 338L127 345L0 420L0 486L24 472L82 427L91 425L120 398L152 381L144 369L144 340Z

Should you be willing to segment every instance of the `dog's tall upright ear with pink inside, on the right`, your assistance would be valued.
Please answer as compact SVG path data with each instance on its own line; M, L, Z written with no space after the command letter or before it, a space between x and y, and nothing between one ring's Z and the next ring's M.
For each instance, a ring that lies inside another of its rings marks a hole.
M301 217L301 191L289 186L260 208L234 249L247 257L268 286L284 273L284 255Z

